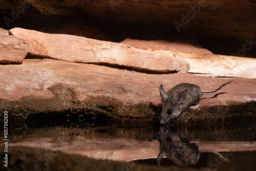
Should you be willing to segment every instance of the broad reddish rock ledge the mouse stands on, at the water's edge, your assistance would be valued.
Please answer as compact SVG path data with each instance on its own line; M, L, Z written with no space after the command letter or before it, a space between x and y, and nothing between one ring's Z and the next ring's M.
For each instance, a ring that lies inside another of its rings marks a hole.
M232 80L217 96L204 96L201 106L240 104L256 100L256 79L211 78L192 74L146 74L87 63L25 59L22 65L0 66L0 108L29 115L47 111L90 109L114 117L152 117L148 105L161 102L178 83L214 91Z

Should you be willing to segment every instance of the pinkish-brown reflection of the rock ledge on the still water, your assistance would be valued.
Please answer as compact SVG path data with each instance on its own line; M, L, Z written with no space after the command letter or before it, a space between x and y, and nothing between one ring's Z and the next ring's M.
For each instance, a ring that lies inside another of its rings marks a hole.
M156 162L156 157L159 154L159 140L161 141L163 138L161 134L164 132L160 133L158 129L157 127L153 129L150 124L147 126L132 125L131 127L124 127L123 125L79 127L79 125L72 124L69 127L57 126L39 129L24 125L19 129L12 130L8 146L53 149L95 159L125 162L153 159ZM214 131L206 132L202 129L191 131L186 127L182 130L177 129L177 132L167 131L169 135L166 136L172 138L173 141L176 140L176 142L180 140L180 144L194 143L199 148L200 153L210 151L218 154L218 152L252 152L256 150L254 134L251 132L253 125L247 124L246 127L243 127L243 135L239 134L241 127L240 129L239 127L237 129L236 127L228 127L231 132L226 132L226 129L215 127ZM237 137L234 137L234 134L240 135L239 141L236 139ZM0 140L0 143L3 142ZM163 148L162 145L161 147ZM181 147L183 149L183 146ZM184 155L186 156L186 154L185 151ZM215 156L219 158L217 155ZM168 161L168 159L166 160ZM162 165L163 162L161 161Z

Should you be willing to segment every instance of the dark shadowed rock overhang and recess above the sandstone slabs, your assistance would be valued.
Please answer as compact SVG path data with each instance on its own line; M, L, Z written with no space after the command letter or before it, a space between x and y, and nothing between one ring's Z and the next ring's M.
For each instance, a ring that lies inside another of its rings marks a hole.
M254 31L256 3L253 0L245 2L46 0L0 1L0 4L2 27L8 29L26 27L52 32L58 30L62 24L75 23L82 30L84 26L94 25L106 37L115 41L126 37L147 40L173 38L196 40L215 54L255 57L255 44L246 53L239 54L246 39L251 38L253 42L256 39ZM34 9L38 11L35 12ZM47 22L40 22L38 18ZM74 31L65 30L65 34L85 35L82 31Z

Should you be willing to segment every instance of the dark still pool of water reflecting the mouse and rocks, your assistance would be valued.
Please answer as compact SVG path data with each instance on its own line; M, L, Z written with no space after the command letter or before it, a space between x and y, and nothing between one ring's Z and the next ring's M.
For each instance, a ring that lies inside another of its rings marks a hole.
M136 120L56 122L34 117L12 124L9 144L150 165L256 170L255 123L166 127Z

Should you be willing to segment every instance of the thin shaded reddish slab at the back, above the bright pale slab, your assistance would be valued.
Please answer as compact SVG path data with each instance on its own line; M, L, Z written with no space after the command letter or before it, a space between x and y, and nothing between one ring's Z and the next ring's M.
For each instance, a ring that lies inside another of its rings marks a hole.
M125 38L120 42L124 45L130 45L138 49L151 49L154 50L164 50L164 51L179 51L184 53L202 53L202 54L213 54L207 49L202 48L196 42L185 42L178 40L137 40L131 38Z

